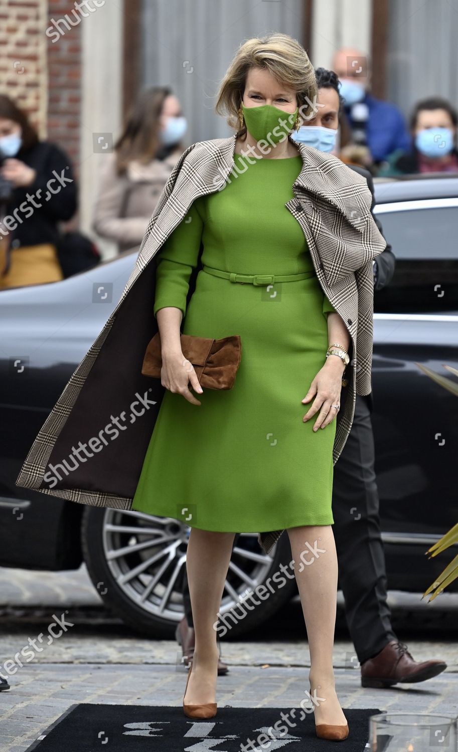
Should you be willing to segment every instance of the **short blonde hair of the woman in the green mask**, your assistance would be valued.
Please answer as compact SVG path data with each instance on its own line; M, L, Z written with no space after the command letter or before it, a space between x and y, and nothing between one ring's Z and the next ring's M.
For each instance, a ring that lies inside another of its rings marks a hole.
M308 117L314 111L312 104L318 94L313 65L302 44L288 34L274 33L253 37L238 47L217 92L215 111L228 115L226 123L241 135L247 126L240 126L238 109L250 68L263 68L284 86L294 89L299 115Z

